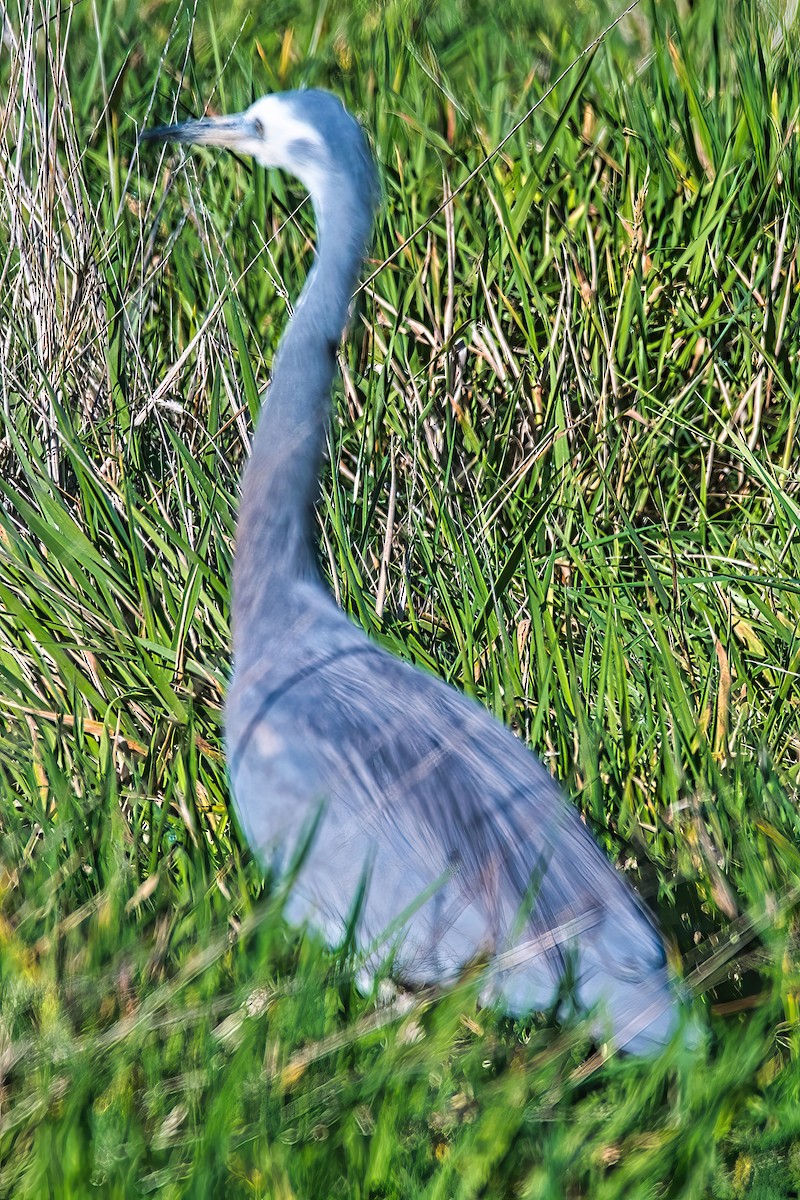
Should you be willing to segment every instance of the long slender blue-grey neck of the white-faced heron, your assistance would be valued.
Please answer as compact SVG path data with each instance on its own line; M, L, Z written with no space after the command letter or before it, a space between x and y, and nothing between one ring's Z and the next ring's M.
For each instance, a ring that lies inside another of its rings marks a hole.
M372 217L348 192L338 180L314 199L318 259L276 355L242 479L233 629L234 653L248 659L279 632L291 588L319 574L314 504L331 383Z

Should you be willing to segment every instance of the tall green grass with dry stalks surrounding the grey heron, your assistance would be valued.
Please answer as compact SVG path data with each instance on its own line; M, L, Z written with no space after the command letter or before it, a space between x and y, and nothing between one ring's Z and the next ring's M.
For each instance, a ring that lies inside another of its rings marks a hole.
M800 1195L800 74L766 7L664 2L547 94L604 20L5 12L0 1196ZM385 188L323 563L563 779L682 962L691 1061L470 979L375 1007L229 812L237 476L313 222L137 128L303 84Z

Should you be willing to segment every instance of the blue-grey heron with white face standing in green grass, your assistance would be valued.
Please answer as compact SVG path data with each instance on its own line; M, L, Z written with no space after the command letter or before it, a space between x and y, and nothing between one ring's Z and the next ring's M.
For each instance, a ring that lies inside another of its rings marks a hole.
M485 965L480 1001L511 1016L588 1013L596 1039L654 1055L685 1030L663 940L535 754L477 701L372 641L318 560L315 504L337 353L379 176L333 94L272 92L245 112L150 130L295 176L315 260L273 359L241 481L224 732L241 829L293 871L291 924L355 936L367 971L408 989Z

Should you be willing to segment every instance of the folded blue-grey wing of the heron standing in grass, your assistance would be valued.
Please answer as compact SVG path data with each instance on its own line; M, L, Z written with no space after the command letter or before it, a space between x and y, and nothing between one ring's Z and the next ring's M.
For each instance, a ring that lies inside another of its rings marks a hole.
M337 634L325 653L295 647L271 688L249 672L229 698L233 791L261 857L296 845L324 806L293 914L336 941L366 881L362 938L405 913L409 982L499 953L512 1010L551 1002L567 946L584 952L589 994L593 974L662 971L648 916L539 760L461 692L349 623Z

